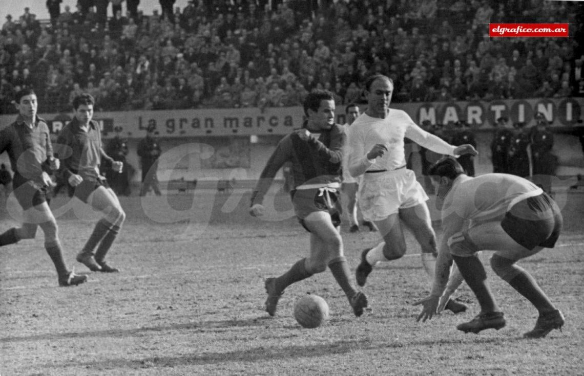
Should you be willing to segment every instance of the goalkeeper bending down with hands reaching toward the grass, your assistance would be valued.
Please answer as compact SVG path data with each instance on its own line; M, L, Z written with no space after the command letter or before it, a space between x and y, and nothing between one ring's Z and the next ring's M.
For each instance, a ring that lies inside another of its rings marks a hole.
M443 199L444 233L432 293L414 303L423 307L418 321L426 321L436 314L454 260L481 305L477 317L458 325L457 329L478 333L503 328L503 312L486 283L485 268L477 256L478 251L492 250L495 254L491 257L491 267L496 275L526 297L539 312L535 328L524 333L524 337L541 338L552 329L561 329L562 312L527 270L516 265L520 259L543 248L554 248L563 223L554 200L532 182L515 175L468 177L451 158L430 167L430 175L438 198Z

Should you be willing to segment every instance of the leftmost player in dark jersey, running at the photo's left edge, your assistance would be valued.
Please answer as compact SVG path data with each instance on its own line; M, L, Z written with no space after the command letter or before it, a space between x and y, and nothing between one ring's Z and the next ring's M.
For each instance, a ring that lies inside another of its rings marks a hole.
M60 286L84 283L85 275L76 275L67 268L63 259L58 226L47 203L48 188L54 183L44 171L48 164L53 170L59 160L53 157L53 145L46 122L37 117L37 97L33 90L25 89L16 94L16 121L0 131L0 154L7 152L13 177L13 194L23 210L23 223L0 234L0 247L33 239L37 228L44 233L44 248L57 269ZM44 165L44 166L43 166Z

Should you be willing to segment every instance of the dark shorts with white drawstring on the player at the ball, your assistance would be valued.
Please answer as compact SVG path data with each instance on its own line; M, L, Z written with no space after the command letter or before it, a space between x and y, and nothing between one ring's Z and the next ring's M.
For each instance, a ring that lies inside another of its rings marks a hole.
M340 193L338 189L329 188L328 191L321 191L319 188L295 189L290 194L298 222L308 232L310 230L306 227L304 219L312 212L327 212L331 215L333 226L340 226L340 213L342 213L342 208L340 206Z

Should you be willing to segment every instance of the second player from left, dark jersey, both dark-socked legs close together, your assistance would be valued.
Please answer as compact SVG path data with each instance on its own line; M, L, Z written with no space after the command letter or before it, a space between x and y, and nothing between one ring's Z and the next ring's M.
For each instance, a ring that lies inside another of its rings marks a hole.
M75 117L61 130L55 155L62 160L62 174L71 194L104 214L77 254L77 261L93 272L112 273L119 270L110 266L105 257L120 232L126 213L112 188L108 187L105 177L100 175L99 166L103 159L119 172L123 163L113 160L103 151L99 123L92 120L93 103L93 97L89 94L75 97Z

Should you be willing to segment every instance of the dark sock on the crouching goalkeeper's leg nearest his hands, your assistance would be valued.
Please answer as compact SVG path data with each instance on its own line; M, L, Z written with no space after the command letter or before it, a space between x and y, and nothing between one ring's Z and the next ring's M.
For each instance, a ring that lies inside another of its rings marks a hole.
M495 297L493 297L488 284L486 284L485 267L478 256L461 257L453 255L452 258L456 262L458 270L463 275L468 287L477 297L478 303L481 305L481 312L497 311Z

